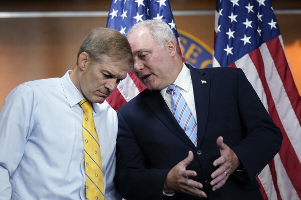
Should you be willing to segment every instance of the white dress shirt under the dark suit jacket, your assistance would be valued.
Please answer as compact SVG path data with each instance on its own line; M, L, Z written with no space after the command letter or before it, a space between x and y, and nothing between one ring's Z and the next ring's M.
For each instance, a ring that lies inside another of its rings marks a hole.
M185 64L183 64L183 68L173 84L177 86L176 90L182 94L183 98L187 103L187 106L189 107L192 113L192 116L196 121L196 111L195 111L195 104L194 104L192 81L190 77L190 70L186 67ZM171 110L172 95L166 93L166 90L167 87L162 89L160 93L163 96L167 106Z

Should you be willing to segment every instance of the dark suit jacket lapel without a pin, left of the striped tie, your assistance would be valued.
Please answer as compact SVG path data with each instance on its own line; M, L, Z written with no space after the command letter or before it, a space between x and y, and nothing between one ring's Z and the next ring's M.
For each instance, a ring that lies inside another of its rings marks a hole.
M146 105L150 110L162 121L162 123L169 128L178 138L180 138L187 145L195 148L193 143L187 137L181 126L178 124L166 102L164 101L160 91L148 91L149 95L144 99Z

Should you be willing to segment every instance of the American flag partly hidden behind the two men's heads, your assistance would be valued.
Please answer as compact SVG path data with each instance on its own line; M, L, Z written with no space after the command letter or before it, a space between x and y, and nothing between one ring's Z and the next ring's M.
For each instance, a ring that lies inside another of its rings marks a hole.
M181 52L179 35L168 0L112 0L107 28L126 35L134 24L148 19L162 20L167 23L177 38L178 49ZM182 60L184 61L183 58ZM145 88L133 71L130 71L127 78L120 82L117 90L107 98L107 101L115 110L118 110Z

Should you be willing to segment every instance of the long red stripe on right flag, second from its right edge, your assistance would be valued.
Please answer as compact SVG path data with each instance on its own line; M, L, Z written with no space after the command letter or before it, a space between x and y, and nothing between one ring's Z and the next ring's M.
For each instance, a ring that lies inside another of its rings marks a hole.
M255 49L254 51L250 52L249 56L250 56L252 62L254 63L254 65L258 71L259 78L262 82L263 89L264 89L264 92L265 92L266 98L267 98L269 114L272 117L274 123L281 129L281 132L283 135L282 147L279 151L279 155L280 155L282 164L286 170L287 175L290 178L292 185L296 189L296 191L301 190L301 185L299 185L300 181L298 180L299 178L297 178L295 176L295 171L301 171L301 165L300 165L299 159L293 149L293 146L291 145L291 143L287 137L286 131L284 130L284 127L281 123L278 112L275 108L275 103L274 103L274 100L272 98L271 92L269 90L269 87L268 87L268 84L267 84L267 81L265 78L263 60L262 60L262 56L260 54L259 49ZM287 155L289 155L289 156L287 156ZM278 193L279 192L278 185L274 184L274 186L275 186L275 190L277 192L277 196L279 196L280 194ZM300 196L300 191L297 191L297 193Z

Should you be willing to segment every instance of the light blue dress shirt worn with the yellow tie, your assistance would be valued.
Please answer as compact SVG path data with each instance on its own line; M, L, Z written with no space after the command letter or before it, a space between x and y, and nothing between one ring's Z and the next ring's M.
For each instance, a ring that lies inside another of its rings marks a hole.
M30 81L16 87L0 112L0 199L85 199L83 96L70 80ZM101 145L105 198L121 199L113 184L117 114L93 103Z

